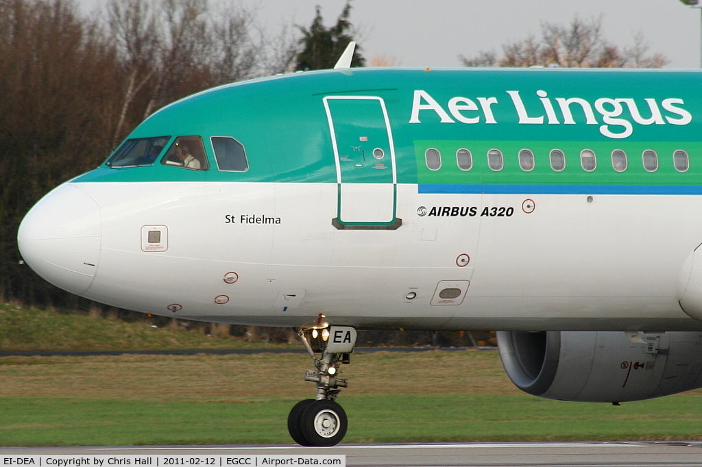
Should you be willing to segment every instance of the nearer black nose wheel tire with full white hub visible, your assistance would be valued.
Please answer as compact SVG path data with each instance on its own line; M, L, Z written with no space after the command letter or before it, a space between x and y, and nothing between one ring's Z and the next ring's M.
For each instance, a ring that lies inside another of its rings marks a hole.
M334 446L346 435L348 419L333 400L315 400L305 407L300 428L308 446Z

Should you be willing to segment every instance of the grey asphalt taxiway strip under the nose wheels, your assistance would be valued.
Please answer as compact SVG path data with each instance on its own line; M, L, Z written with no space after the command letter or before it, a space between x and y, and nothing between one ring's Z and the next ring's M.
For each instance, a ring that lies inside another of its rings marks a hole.
M276 446L4 447L0 456L324 455L347 466L701 466L702 442L481 442L461 444Z

